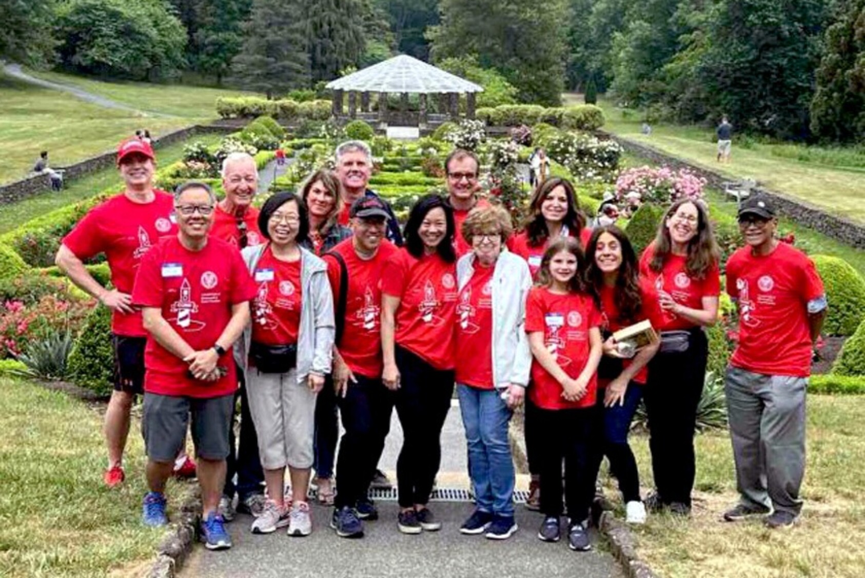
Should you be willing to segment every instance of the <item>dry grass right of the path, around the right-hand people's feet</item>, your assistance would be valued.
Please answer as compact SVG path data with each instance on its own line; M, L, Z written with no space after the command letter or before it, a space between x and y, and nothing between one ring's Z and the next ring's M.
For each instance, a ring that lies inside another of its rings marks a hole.
M667 578L713 576L842 576L865 568L865 396L810 395L808 463L800 523L766 530L759 520L723 523L735 504L733 455L727 432L696 437L695 507L689 520L651 515L635 528L638 556ZM648 440L634 435L640 481L651 487ZM607 496L617 497L612 487ZM621 516L622 512L618 512Z

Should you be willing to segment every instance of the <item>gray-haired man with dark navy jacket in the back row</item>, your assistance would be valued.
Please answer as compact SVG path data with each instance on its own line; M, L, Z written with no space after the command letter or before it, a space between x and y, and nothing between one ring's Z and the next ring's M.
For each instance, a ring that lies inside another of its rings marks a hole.
M373 171L373 153L369 149L368 144L362 140L349 140L336 147L334 153L336 161L336 175L343 183L343 211L339 214L339 224L349 224L349 210L352 204L362 196L375 196L374 190L367 188L369 177ZM400 223L397 222L394 215L394 209L390 203L381 199L388 212L388 228L386 234L388 241L394 245L402 245L402 233L400 232Z

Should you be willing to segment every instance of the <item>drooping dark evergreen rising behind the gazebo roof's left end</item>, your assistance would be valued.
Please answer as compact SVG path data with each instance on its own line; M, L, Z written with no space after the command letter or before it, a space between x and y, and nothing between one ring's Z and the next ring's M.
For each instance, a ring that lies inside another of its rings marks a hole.
M306 0L306 26L312 81L333 80L357 66L365 48L360 0ZM296 16L297 17L297 16Z

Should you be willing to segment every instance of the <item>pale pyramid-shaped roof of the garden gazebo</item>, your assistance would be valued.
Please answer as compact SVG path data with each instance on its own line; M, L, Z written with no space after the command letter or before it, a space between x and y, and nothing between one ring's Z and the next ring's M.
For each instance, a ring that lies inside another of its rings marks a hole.
M398 55L327 83L360 93L480 93L484 88L408 55Z

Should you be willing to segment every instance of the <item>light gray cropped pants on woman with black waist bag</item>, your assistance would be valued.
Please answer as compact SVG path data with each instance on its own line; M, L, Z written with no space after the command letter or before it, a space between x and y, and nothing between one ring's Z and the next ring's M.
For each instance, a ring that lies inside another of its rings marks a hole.
M288 373L247 372L247 400L259 438L261 466L312 466L316 398L306 383L298 383L298 370Z

